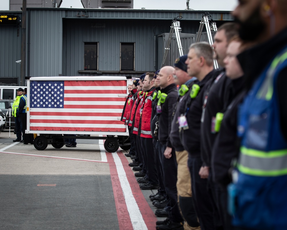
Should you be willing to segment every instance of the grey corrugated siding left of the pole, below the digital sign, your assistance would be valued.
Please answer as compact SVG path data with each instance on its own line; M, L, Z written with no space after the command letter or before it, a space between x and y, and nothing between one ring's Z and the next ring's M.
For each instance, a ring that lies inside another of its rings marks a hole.
M0 77L20 80L21 65L16 61L21 60L21 27L17 37L17 26L0 26L0 50Z

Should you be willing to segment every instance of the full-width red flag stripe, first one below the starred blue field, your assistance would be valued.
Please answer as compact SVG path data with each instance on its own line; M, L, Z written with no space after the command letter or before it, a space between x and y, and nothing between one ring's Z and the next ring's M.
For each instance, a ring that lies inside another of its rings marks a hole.
M83 115L85 115L85 116L121 117L122 113L97 113L97 112L83 113L82 111L79 111L77 113L75 113L75 112L33 112L33 111L30 111L30 116L83 116Z

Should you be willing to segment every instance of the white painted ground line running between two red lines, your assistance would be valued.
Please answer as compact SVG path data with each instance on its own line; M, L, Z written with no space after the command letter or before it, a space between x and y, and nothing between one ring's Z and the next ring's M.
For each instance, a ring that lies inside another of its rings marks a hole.
M146 226L146 223L144 222L144 218L141 215L141 212L139 210L139 207L137 206L137 202L135 201L135 198L133 196L133 193L131 191L131 187L129 184L129 181L127 179L127 175L125 173L125 170L123 168L123 164L121 162L121 159L119 158L117 153L112 153L112 156L114 158L116 167L117 167L117 173L119 175L119 180L121 183L121 187L123 190L123 194L125 197L125 202L127 204L127 210L129 212L129 216L131 218L131 223L133 225L133 229L141 229L141 230L148 230L148 227Z

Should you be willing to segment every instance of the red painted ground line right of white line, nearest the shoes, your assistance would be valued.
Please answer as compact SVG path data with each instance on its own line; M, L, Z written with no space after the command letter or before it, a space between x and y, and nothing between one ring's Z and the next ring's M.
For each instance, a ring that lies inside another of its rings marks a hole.
M143 219L146 223L146 226L149 230L156 229L156 221L157 218L150 208L148 202L146 201L146 198L144 197L144 194L142 193L141 189L139 188L139 183L137 183L137 180L135 178L135 175L131 169L131 167L128 165L129 162L127 160L127 157L124 156L124 154L119 153L118 154L121 162L123 164L123 168L125 170L125 173L127 175L127 179L129 181L129 184L131 186L131 191L133 193L133 196L135 197L135 200L137 201L137 205L139 207L139 210L141 212L141 215L143 216Z

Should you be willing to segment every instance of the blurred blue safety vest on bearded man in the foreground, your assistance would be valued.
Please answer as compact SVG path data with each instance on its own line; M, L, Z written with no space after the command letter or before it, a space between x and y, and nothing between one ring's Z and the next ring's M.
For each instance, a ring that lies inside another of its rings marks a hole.
M286 67L284 49L265 68L238 108L241 149L235 226L287 229L287 141L280 127L276 92L278 73Z

